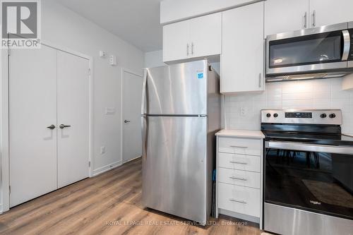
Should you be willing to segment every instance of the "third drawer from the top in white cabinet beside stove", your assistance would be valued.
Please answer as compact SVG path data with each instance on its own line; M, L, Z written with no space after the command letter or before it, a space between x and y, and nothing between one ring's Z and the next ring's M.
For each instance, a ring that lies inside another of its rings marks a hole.
M222 183L232 183L238 186L260 188L260 173L218 168L217 181Z

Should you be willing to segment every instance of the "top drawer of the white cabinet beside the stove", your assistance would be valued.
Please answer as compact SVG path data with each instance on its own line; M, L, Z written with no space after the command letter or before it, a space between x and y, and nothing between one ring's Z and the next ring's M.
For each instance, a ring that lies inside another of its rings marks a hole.
M218 140L218 152L261 156L263 141L249 138L225 138Z

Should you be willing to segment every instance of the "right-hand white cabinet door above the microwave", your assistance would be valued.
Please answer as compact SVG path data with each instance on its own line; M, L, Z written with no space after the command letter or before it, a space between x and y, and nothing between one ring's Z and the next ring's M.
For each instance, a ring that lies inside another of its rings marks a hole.
M352 0L310 0L311 27L353 21Z

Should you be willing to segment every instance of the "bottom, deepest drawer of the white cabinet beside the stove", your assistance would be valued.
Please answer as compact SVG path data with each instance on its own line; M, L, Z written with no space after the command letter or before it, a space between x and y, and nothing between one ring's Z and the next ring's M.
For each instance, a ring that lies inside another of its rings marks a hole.
M260 217L260 189L218 183L218 207Z

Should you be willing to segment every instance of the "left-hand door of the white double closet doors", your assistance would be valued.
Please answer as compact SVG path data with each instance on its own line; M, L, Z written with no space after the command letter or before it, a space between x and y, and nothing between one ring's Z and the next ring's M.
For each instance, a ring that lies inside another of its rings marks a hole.
M9 77L10 207L57 188L56 50L12 50Z

